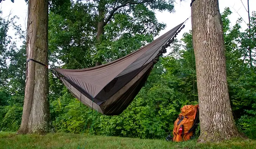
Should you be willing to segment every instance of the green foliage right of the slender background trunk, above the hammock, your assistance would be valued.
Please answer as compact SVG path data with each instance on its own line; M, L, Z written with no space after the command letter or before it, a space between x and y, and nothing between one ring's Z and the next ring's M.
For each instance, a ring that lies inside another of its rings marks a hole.
M155 18L154 10L173 11L173 2L159 0L137 5L132 4L138 2L141 1L136 0L129 5L127 4L127 7L119 8L111 17L104 27L104 35L97 42L93 61L106 63L123 57L145 43L151 42L153 37L165 28L165 25L159 23ZM107 5L113 8L118 5L121 6L122 3L124 2L116 1L115 3L107 3ZM112 9L107 9L105 17L110 17L111 11Z

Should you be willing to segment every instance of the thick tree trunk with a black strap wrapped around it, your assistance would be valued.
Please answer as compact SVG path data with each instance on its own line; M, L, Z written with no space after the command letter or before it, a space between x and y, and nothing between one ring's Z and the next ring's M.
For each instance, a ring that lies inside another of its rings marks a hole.
M27 59L48 64L48 0L28 1ZM18 133L49 131L48 68L27 62L22 121Z

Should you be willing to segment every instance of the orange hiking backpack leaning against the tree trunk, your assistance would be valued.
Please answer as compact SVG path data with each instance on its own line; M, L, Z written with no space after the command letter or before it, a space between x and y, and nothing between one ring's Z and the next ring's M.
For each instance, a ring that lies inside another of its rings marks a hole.
M174 122L173 141L180 142L190 140L199 122L198 116L198 105L183 106L179 117Z

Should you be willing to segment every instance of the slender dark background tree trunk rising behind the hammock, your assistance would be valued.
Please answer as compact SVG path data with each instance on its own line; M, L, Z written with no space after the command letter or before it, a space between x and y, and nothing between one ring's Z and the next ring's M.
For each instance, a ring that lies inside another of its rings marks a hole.
M104 34L104 9L105 4L103 4L102 0L99 2L99 22L97 28L97 43L101 43L101 35ZM98 51L98 49L97 49ZM95 66L99 66L102 64L102 58L100 57L98 61L96 61Z

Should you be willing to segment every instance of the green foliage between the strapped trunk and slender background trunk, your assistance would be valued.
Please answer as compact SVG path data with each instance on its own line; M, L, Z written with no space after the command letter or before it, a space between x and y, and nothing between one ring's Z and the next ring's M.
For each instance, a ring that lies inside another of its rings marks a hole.
M95 43L95 22L89 6L72 3L65 14L49 14L49 60L62 68L92 67L91 48Z

